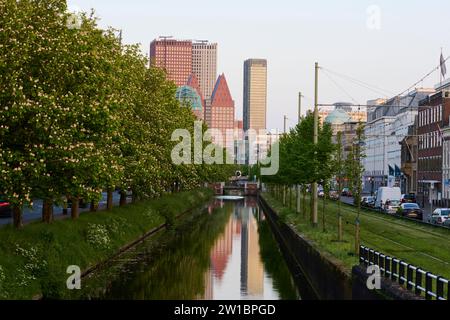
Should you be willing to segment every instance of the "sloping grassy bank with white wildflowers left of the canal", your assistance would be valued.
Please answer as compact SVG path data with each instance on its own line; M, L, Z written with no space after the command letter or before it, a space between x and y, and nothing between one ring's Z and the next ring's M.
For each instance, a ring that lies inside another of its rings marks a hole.
M151 229L210 199L201 189L142 201L76 221L0 229L0 299L64 298L67 267L81 270L107 259Z

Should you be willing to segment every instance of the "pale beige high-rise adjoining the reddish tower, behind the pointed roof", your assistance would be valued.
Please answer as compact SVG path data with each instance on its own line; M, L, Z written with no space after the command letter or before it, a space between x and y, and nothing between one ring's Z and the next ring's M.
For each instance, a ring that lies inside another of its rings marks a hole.
M211 98L217 80L217 43L192 43L192 73L198 79L203 97Z

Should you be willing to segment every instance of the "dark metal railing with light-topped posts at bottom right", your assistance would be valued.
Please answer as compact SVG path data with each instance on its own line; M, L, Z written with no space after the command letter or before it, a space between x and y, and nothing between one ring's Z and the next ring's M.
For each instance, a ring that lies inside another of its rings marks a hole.
M359 248L359 262L366 267L378 266L381 275L426 300L449 300L450 281L444 277L364 246Z

